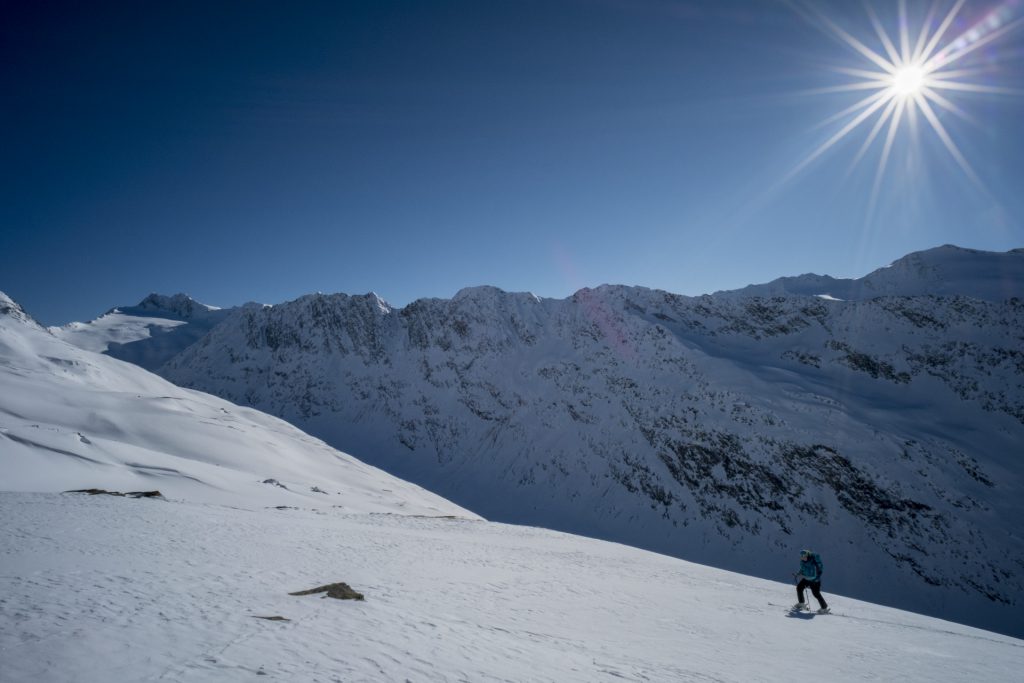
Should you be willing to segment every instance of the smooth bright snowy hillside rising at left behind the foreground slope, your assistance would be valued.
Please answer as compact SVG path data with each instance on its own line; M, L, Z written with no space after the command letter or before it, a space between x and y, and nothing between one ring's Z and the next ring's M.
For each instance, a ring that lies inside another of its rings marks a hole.
M3 293L0 473L2 490L476 517L276 418L72 346Z

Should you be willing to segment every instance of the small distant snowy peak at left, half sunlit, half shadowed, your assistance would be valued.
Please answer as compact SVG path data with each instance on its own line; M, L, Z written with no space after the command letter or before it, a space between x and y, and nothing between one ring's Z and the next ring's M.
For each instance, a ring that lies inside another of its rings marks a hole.
M200 303L185 294L151 294L135 306L112 308L94 321L69 323L50 332L80 348L156 370L232 310Z

